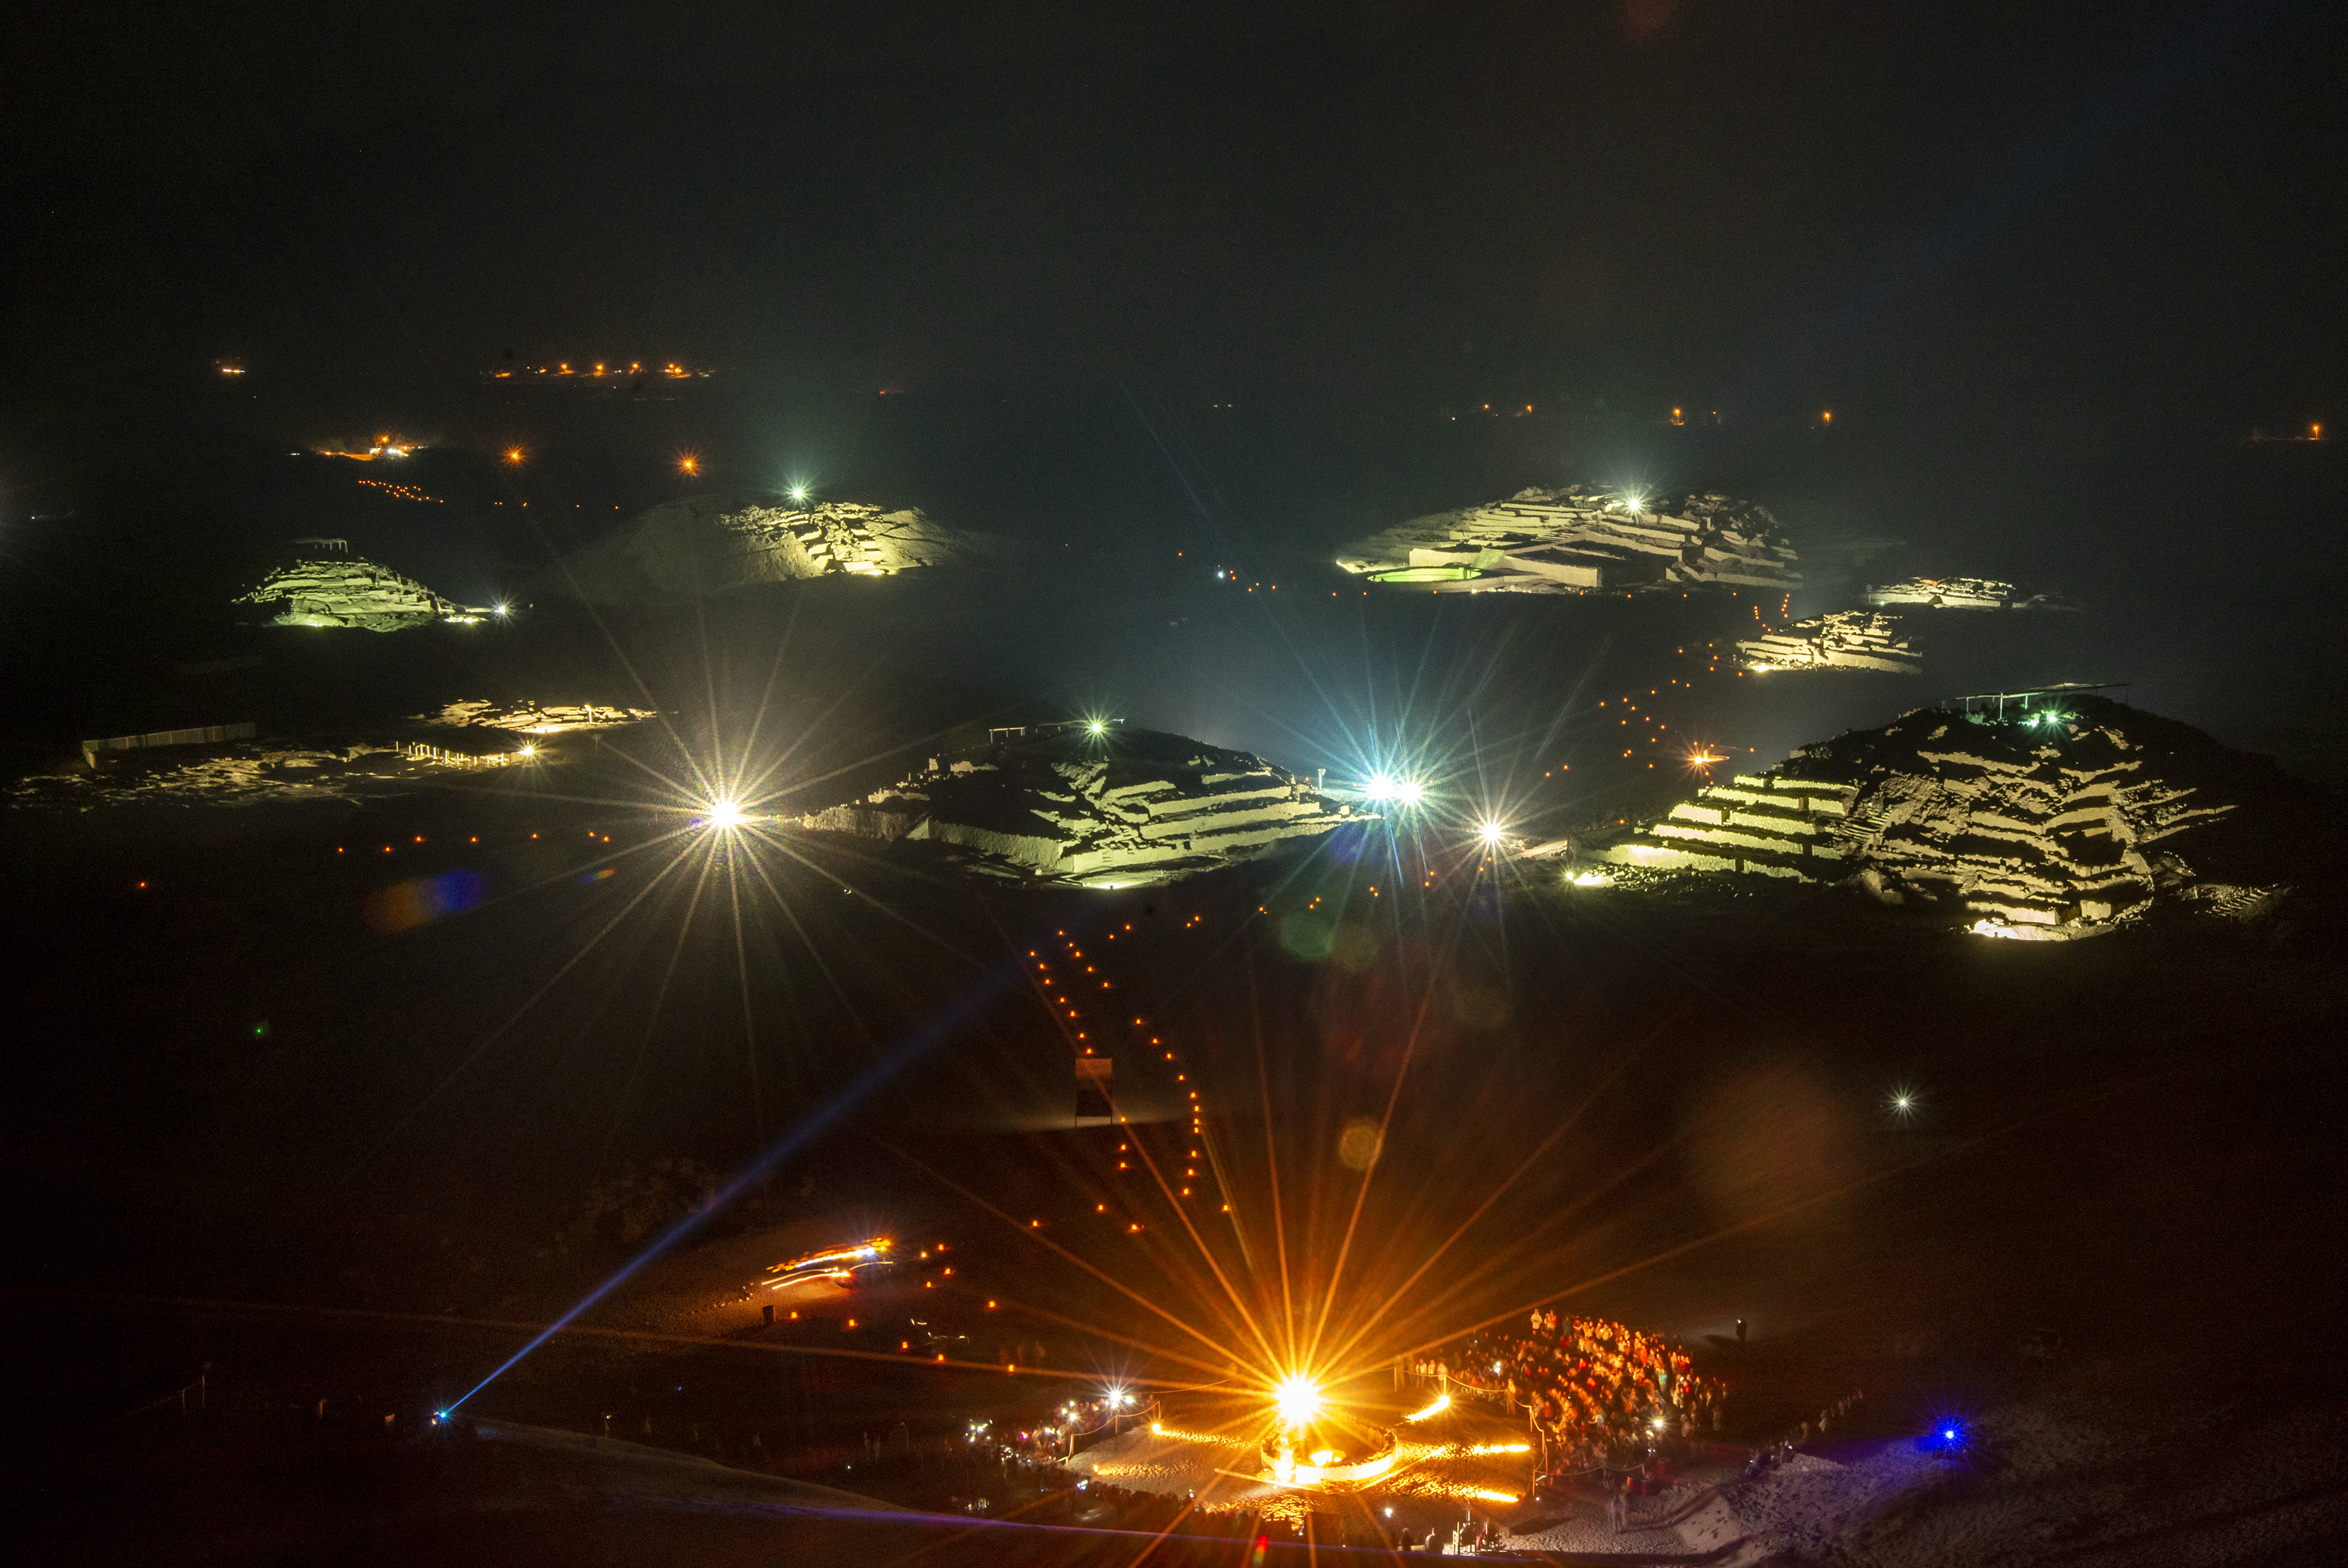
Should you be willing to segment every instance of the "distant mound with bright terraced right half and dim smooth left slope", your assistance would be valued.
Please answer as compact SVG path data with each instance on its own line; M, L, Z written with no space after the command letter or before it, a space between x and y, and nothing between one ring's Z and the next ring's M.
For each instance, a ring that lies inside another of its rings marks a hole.
M533 584L535 596L641 603L754 582L890 577L974 561L993 535L932 523L916 507L862 502L765 505L700 495L672 500L575 549Z

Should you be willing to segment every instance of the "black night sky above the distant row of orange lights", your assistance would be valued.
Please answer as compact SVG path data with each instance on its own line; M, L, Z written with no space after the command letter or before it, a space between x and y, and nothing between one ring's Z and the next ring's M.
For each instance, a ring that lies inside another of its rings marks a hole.
M2322 5L40 7L19 397L237 354L2320 418Z

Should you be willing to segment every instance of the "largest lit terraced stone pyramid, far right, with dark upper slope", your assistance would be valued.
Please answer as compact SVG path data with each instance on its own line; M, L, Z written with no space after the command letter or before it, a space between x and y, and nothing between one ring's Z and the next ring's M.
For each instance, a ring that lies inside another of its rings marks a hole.
M2163 777L2181 753L2132 742L2137 721L2217 751L2184 725L2097 697L2015 721L1916 709L1707 786L1594 859L1855 878L1890 904L1939 906L1982 934L2026 937L2111 927L2155 892L2219 904L2254 892L2200 883L2174 852L2172 838L2235 807Z

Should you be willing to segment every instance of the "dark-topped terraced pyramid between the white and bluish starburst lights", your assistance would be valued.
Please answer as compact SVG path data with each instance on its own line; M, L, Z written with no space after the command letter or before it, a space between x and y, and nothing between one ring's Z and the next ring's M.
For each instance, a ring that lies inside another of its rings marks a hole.
M789 826L946 845L967 869L1017 880L1141 887L1364 819L1249 751L1122 725L1033 725Z

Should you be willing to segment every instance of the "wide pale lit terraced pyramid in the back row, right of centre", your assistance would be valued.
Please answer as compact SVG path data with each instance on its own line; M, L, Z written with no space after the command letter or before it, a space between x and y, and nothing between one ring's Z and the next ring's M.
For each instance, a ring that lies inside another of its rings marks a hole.
M1348 545L1348 573L1435 592L1587 594L1801 587L1794 547L1766 507L1728 495L1519 491L1437 512Z

